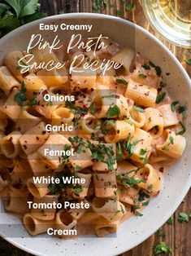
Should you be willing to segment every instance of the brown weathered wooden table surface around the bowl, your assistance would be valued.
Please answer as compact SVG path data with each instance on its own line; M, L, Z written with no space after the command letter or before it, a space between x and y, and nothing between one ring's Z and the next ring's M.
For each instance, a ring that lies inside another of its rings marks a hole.
M66 12L92 12L93 2L91 0L40 0L41 8L45 11L46 15L56 15ZM143 14L141 8L141 1L121 1L121 0L106 0L108 3L105 8L102 8L98 12L121 16L126 20L131 20L132 22L141 25L143 28L149 30L151 33L159 38L172 52L178 60L183 64L184 68L189 73L191 77L191 66L186 64L186 55L189 54L187 50L180 47L173 46L171 43L160 38L153 29L150 28L145 15ZM123 4L122 2L125 2ZM132 11L125 11L125 5L134 2L135 7ZM134 249L122 254L123 256L151 256L153 245L158 244L159 241L165 241L172 249L173 256L191 256L191 220L189 223L179 223L178 216L180 212L186 212L189 214L191 212L191 190L189 190L188 195L185 197L184 201L180 204L179 208L174 214L173 225L168 225L165 223L161 228L164 237L154 234L150 236L141 245L138 245ZM12 245L0 239L0 256L11 256L11 255L28 255L20 249L15 249ZM55 255L53 255L55 256Z

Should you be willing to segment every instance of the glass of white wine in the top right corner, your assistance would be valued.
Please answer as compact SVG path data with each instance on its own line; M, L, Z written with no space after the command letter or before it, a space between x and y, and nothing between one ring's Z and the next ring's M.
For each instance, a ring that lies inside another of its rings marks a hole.
M168 41L191 48L191 0L142 0L151 26Z

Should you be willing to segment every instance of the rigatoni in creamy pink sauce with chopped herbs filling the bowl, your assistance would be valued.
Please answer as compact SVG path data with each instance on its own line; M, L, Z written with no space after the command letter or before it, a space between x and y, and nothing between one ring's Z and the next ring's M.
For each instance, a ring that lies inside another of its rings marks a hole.
M163 189L166 163L182 157L183 107L176 113L154 64L111 41L94 51L35 47L37 67L21 72L24 55L13 51L0 67L5 209L20 214L32 236L76 239L85 225L100 237L116 232L141 216ZM119 68L93 69L108 58ZM49 72L49 63L61 67Z

